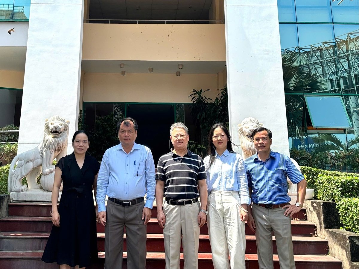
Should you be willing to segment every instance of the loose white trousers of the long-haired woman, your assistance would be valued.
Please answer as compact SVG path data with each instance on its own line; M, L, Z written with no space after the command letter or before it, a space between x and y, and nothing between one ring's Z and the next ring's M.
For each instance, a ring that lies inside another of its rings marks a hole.
M207 210L214 268L245 269L246 232L244 222L241 221L238 192L212 190Z

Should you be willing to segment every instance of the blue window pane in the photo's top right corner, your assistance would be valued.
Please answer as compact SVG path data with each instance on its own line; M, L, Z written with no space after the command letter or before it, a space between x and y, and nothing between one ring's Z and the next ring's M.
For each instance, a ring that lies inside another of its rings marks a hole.
M344 23L359 23L359 1L358 0L345 0L338 5L339 2L331 3L333 22Z

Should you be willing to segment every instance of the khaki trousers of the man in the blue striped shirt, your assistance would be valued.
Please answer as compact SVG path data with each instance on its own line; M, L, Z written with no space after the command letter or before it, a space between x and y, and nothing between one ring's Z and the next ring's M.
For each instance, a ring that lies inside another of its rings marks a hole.
M281 269L295 269L292 243L292 218L284 216L285 209L267 209L256 204L252 215L256 223L256 243L260 269L273 269L272 232L278 250Z

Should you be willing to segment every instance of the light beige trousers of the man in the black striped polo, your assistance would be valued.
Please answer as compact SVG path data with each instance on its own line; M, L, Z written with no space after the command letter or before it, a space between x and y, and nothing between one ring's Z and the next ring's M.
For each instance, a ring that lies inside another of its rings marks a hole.
M184 269L198 268L200 203L174 206L164 202L166 222L163 229L166 269L180 269L181 234Z

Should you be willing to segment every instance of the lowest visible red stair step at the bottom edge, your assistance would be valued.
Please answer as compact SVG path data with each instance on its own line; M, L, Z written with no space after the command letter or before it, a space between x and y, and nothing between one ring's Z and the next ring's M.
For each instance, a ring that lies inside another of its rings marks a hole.
M0 251L1 268L59 268L59 265L43 263L40 259L42 251ZM103 269L104 253L99 252L97 264L88 268ZM123 253L123 261L126 263L127 253ZM164 253L148 252L146 258L147 269L157 269L165 267ZM209 253L199 254L199 269L212 269L212 255ZM279 269L278 255L273 255L274 268ZM331 256L323 255L294 255L295 266L297 269L342 269L341 261ZM183 253L181 253L181 267L183 267ZM124 268L126 268L124 266ZM256 254L246 254L246 268L258 268L258 257Z

